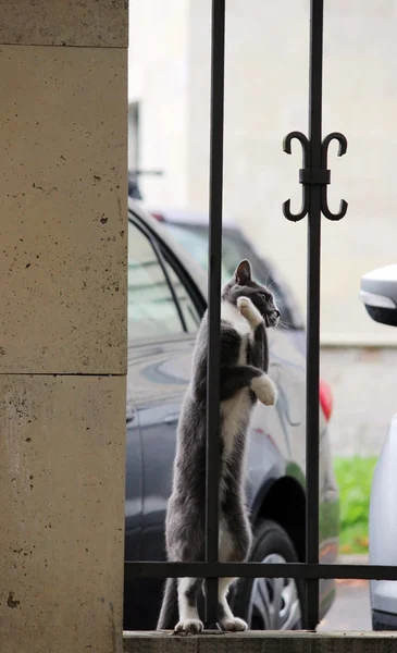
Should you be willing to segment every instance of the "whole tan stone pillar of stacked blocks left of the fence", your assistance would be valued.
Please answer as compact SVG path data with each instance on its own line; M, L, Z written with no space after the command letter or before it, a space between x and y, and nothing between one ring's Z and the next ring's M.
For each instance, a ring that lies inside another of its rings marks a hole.
M120 653L127 0L0 0L0 651Z

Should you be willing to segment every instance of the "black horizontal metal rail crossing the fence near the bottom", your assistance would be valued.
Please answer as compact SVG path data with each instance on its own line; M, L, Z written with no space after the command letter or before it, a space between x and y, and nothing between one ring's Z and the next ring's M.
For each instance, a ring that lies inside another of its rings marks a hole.
M125 563L125 578L298 578L397 580L389 565L340 565L312 563Z

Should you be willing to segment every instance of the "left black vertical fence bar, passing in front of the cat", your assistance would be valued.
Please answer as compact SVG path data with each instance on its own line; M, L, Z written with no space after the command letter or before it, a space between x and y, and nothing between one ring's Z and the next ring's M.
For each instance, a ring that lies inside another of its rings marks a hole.
M208 276L206 562L218 562L225 0L212 0ZM218 579L206 583L206 628L218 628Z

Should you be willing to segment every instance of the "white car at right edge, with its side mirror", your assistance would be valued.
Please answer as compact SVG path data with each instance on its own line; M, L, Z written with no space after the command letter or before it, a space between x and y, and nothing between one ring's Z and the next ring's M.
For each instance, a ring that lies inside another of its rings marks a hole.
M397 264L361 280L360 297L373 320L397 326ZM370 564L397 566L397 412L392 418L372 481ZM397 630L397 582L371 580L373 630Z

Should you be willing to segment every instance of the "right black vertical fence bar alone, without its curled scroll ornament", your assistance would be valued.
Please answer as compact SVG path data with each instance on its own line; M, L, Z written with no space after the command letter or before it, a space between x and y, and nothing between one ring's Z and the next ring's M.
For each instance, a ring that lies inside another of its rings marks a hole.
M321 168L323 0L310 2L309 141L310 167ZM308 215L308 306L306 372L306 562L319 562L319 374L320 374L320 257L321 186L313 184ZM319 624L319 580L307 580L305 592L306 628Z

